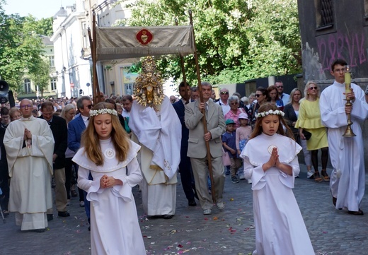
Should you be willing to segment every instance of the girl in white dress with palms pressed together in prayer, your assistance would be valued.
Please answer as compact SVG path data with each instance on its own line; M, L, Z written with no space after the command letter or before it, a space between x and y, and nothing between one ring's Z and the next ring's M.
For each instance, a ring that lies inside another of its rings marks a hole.
M292 192L294 176L300 171L297 154L301 147L294 141L283 115L274 104L262 105L251 138L241 153L244 175L253 182L253 255L314 254ZM290 137L285 135L282 124Z

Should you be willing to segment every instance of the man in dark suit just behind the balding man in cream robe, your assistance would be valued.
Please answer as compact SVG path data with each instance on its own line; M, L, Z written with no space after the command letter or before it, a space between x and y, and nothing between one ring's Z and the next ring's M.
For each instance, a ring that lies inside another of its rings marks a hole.
M52 167L54 169L55 180L55 203L57 215L59 217L69 217L67 212L67 189L65 189L65 151L67 150L67 121L59 116L54 116L54 106L52 102L45 101L41 105L42 115L40 119L45 119L50 126L54 136L54 155L52 155ZM52 220L52 208L47 210L47 220Z

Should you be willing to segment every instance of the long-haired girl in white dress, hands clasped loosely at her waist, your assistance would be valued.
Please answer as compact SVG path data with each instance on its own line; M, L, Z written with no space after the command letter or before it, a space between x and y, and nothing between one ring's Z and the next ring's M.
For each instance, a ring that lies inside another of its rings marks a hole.
M91 254L146 254L132 194L142 180L140 146L127 137L112 104L98 103L90 116L73 161L91 201Z

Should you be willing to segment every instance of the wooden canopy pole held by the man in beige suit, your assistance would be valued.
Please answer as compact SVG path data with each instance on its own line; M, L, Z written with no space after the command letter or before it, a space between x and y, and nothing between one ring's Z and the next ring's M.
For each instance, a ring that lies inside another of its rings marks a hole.
M193 27L193 20L192 20L192 10L189 10L189 18L190 18L190 25ZM195 67L197 69L197 80L198 80L198 91L200 92L200 102L203 102L203 93L202 93L202 84L200 81L200 66L198 64L198 56L197 56L197 46L195 45L195 35L194 35L194 28L193 28L193 41L194 41L194 58L195 58ZM205 134L207 134L207 120L206 120L206 110L202 109L202 122L203 128L205 129ZM216 203L216 194L214 193L214 175L212 172L212 157L211 152L209 150L209 141L206 141L206 148L207 148L207 164L208 164L208 172L209 172L209 179L211 180L211 192L212 192L212 201Z

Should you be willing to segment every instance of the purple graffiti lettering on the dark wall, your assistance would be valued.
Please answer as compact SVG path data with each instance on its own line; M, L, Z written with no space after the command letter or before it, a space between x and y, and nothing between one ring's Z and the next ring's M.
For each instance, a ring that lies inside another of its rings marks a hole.
M335 33L328 37L317 37L316 40L322 71L330 71L330 64L335 59L345 59L352 67L367 61L363 32L352 35Z

